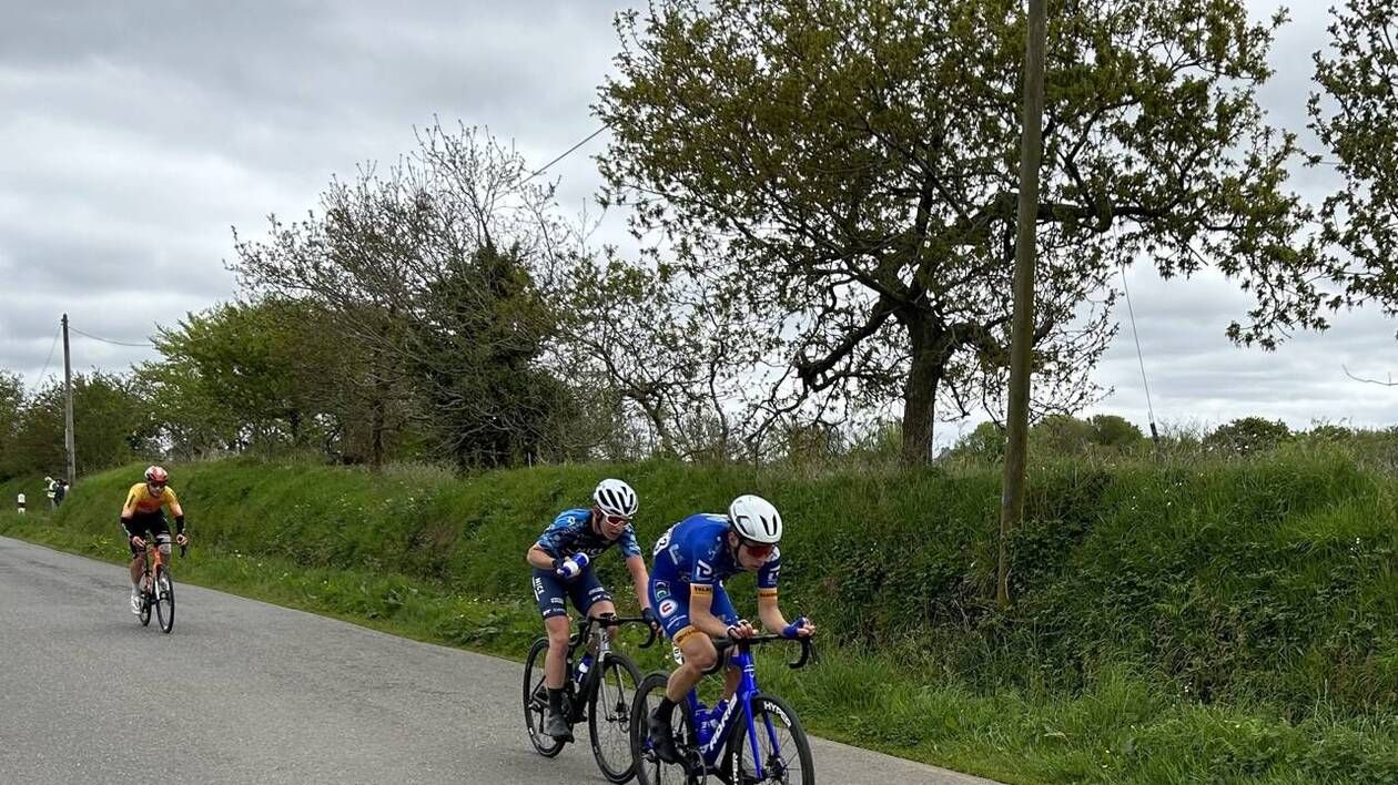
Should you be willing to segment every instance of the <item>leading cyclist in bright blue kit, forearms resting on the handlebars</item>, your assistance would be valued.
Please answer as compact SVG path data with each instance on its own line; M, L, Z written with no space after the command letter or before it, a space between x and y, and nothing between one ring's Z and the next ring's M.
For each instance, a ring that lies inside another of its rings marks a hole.
M656 570L650 575L650 602L660 624L684 655L670 675L665 697L650 714L656 753L675 763L671 715L675 704L712 668L719 652L712 638L748 638L756 634L738 617L724 578L744 570L758 571L758 617L770 633L788 638L815 634L815 624L801 616L787 622L777 606L777 573L781 570L781 515L761 496L733 500L727 515L700 513L670 527L656 542ZM724 700L731 700L742 673L728 669Z

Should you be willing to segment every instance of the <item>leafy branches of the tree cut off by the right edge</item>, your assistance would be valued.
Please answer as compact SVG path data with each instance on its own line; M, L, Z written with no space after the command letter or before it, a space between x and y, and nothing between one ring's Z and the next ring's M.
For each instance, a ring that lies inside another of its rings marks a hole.
M1343 183L1321 208L1323 237L1352 257L1355 293L1398 313L1398 0L1348 0L1329 35L1309 109Z

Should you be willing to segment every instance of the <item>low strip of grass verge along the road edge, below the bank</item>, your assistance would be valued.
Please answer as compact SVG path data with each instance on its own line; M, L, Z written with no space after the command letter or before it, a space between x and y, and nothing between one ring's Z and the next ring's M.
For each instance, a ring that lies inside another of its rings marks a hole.
M115 528L101 534L46 513L0 514L3 535L119 564ZM540 631L530 603L473 598L440 581L218 545L190 553L175 564L179 581L410 638L519 659ZM663 666L664 652L629 650L643 666ZM1317 707L1293 722L1262 704L1201 705L1124 666L1097 669L1075 694L984 690L930 679L934 666L905 638L881 651L823 645L819 662L801 672L788 672L773 652L761 679L798 707L814 733L1005 782L1398 781L1391 717L1331 717Z

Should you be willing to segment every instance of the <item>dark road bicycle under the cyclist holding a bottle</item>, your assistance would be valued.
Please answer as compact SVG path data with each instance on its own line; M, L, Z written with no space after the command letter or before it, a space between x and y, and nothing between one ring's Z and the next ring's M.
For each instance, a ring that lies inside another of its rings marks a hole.
M656 630L639 616L587 617L568 640L569 677L563 684L563 717L572 728L586 715L593 757L603 777L611 782L626 782L636 772L630 749L630 711L640 669L629 656L612 650L607 630L633 623L646 624L650 630L642 648L656 643ZM586 650L582 656L580 650ZM530 647L524 661L524 726L534 750L554 757L568 742L544 733L548 717L548 690L544 687L547 654L548 637L541 637Z

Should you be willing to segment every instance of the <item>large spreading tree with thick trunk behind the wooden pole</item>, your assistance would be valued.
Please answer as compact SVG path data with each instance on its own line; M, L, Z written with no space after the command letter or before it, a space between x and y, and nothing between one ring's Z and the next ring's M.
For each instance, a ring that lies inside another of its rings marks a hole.
M1090 399L1106 289L1148 254L1215 265L1257 296L1229 335L1324 327L1328 271L1285 190L1295 138L1254 89L1282 18L1241 0L1081 0L1051 14L1036 373ZM794 372L772 416L823 395L903 402L927 460L938 395L1001 395L1009 323L1023 17L1014 0L665 0L618 21L598 115L608 200L713 282ZM658 254L657 254L658 258Z

